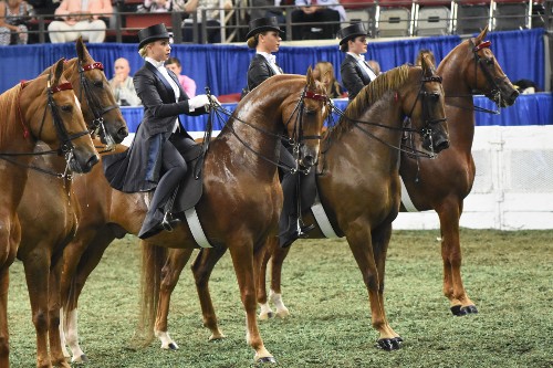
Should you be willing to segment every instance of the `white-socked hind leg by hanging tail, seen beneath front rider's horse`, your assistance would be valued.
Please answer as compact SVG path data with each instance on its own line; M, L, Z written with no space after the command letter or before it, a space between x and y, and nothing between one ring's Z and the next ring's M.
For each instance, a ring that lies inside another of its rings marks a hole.
M157 308L155 335L161 340L161 349L178 349L167 332L167 316L173 291L177 285L180 273L192 254L192 249L169 249L167 262L161 269L161 284L159 288L159 306Z

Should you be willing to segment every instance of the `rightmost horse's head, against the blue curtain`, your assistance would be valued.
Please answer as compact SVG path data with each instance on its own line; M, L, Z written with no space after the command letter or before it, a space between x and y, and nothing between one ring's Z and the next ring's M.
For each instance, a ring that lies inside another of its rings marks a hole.
M483 41L488 27L480 34L467 41L470 49L471 61L466 71L468 81L474 81L471 88L483 93L488 98L501 107L511 106L519 96L519 92L503 73L495 56L490 50L491 41Z

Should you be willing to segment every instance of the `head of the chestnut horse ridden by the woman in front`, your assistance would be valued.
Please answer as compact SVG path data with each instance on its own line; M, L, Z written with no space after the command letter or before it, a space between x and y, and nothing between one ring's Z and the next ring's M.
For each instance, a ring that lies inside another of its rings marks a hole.
M324 84L313 76L311 66L304 81L300 101L298 95L286 98L282 116L283 120L288 120L290 141L296 145L298 162L309 169L317 161L321 130L328 114L330 99Z

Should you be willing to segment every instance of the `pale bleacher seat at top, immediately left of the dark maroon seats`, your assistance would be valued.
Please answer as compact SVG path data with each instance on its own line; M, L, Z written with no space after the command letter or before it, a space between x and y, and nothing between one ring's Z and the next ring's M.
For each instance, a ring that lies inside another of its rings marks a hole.
M452 32L451 0L418 0L416 2L415 35L444 35Z

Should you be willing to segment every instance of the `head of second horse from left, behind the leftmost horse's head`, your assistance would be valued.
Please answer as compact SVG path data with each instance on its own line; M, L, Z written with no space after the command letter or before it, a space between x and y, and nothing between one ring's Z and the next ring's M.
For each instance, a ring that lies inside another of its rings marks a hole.
M92 59L82 38L76 40L75 48L77 57L67 62L71 67L66 69L66 76L81 101L84 119L102 143L118 144L128 135L128 128L104 74L104 65Z

